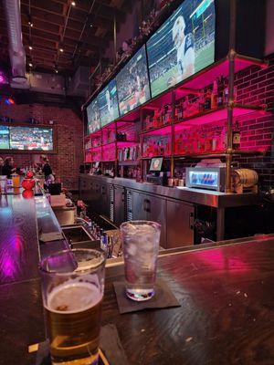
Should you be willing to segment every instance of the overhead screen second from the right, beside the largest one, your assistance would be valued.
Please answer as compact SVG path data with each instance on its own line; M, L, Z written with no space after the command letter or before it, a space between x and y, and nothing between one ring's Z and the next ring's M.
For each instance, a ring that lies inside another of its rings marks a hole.
M116 76L121 116L151 99L145 46Z

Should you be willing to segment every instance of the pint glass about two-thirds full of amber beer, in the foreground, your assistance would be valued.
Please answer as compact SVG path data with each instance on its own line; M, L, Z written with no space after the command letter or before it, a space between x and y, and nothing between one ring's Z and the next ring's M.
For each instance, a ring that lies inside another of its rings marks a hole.
M97 364L104 255L61 251L44 258L39 268L52 364Z

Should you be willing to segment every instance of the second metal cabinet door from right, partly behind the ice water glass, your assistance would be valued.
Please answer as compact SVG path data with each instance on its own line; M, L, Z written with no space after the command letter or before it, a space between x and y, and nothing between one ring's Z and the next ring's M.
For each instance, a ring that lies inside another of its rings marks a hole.
M144 206L147 219L162 225L160 245L166 248L166 201L162 198L147 195Z

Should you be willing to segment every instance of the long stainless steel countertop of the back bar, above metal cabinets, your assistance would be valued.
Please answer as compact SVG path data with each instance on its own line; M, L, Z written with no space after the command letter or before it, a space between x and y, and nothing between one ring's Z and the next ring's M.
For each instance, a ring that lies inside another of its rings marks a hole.
M96 179L101 183L120 185L128 189L138 190L153 195L181 200L187 203L195 203L214 208L228 208L242 205L255 205L259 202L259 195L256 193L220 193L202 189L192 188L170 188L167 186L154 185L151 183L137 183L131 179L108 178L100 175L80 174L81 178Z

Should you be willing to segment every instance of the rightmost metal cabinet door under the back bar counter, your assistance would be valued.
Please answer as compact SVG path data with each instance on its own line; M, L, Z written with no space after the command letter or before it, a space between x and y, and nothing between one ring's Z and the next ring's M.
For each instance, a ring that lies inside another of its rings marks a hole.
M166 208L167 248L194 245L194 205L167 201Z

